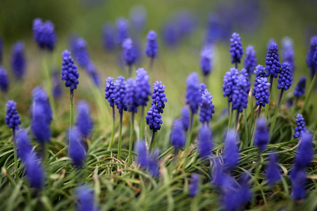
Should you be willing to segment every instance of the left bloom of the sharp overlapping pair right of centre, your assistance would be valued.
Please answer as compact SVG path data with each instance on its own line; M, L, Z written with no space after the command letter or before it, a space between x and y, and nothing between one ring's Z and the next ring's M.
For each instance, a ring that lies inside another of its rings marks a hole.
M232 102L231 95L238 75L238 69L230 68L230 71L225 72L225 76L223 76L223 96L228 97L228 102Z

